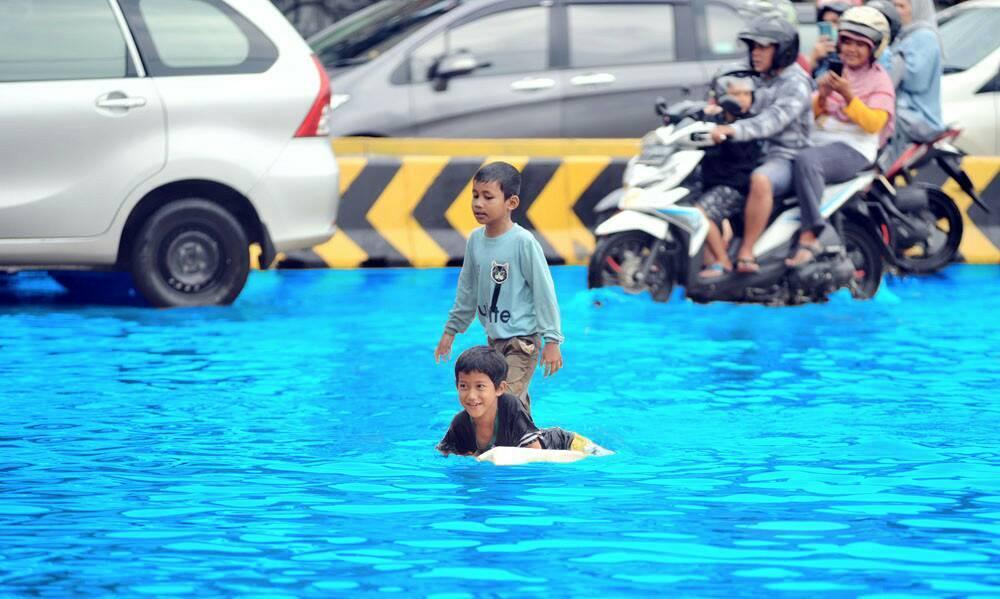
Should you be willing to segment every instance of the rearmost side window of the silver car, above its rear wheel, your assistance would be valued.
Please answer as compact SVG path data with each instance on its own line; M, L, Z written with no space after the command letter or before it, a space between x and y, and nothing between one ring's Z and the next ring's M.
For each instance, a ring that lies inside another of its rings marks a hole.
M220 0L125 0L151 75L260 73L277 59L267 37Z

